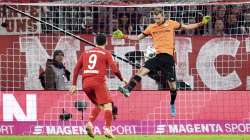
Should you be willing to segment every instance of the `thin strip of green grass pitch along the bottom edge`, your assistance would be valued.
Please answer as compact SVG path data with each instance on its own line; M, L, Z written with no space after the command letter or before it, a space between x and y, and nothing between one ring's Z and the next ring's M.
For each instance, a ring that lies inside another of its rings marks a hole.
M102 135L88 136L0 136L0 140L108 140ZM117 135L115 140L250 140L250 135Z

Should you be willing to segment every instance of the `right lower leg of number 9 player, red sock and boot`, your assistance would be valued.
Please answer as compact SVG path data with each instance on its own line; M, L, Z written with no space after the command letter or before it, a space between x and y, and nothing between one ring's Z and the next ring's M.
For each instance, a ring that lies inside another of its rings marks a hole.
M112 134L112 103L103 104L104 108L104 120L105 120L105 128L104 128L104 135L108 138L114 138Z

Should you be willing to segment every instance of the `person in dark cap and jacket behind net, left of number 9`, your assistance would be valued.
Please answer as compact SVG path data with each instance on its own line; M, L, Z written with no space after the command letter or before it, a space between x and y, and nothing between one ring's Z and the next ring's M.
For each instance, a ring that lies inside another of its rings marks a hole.
M68 90L70 72L63 65L64 53L56 50L53 59L48 59L45 72L40 75L45 90Z

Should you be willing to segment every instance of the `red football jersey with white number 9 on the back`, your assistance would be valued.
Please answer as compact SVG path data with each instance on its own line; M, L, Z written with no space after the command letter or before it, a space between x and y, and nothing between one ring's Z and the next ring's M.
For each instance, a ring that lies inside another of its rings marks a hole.
M73 74L73 85L76 85L77 76L82 71L81 74L83 78L86 77L100 77L104 78L106 75L106 70L111 67L112 72L122 80L119 69L116 66L111 52L95 47L87 50L81 54L78 60Z

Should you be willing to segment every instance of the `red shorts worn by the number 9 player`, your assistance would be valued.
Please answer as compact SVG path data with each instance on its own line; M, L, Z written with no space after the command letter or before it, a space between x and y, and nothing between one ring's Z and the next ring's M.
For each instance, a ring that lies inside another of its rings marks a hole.
M111 103L112 99L108 92L105 79L101 78L84 78L83 91L95 105Z

